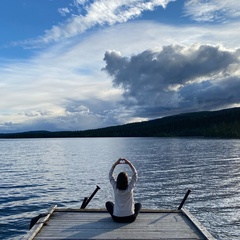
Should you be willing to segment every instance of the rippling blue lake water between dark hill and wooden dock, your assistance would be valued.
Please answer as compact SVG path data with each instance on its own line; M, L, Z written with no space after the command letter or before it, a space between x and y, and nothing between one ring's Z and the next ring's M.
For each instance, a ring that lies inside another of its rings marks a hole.
M0 238L21 239L52 205L80 207L96 185L88 208L103 208L119 157L138 169L144 208L176 209L191 189L184 207L216 239L239 239L240 140L187 138L0 140Z

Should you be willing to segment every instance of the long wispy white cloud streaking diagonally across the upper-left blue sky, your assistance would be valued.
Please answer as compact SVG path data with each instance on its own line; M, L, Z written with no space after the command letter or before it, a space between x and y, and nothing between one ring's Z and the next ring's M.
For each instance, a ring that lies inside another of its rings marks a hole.
M96 26L112 26L136 18L144 11L152 11L159 6L165 8L172 1L176 0L96 0L93 2L78 0L74 5L78 8L78 12L84 10L84 15L72 15L65 23L46 30L42 37L23 41L22 44L47 44L75 37ZM61 14L69 12L68 8L62 8L59 11Z

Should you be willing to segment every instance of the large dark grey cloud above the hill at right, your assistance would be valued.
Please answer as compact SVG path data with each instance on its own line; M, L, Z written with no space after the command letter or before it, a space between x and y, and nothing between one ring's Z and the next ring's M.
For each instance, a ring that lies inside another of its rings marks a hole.
M166 46L130 58L108 51L104 70L138 117L213 110L240 103L240 51L219 46Z

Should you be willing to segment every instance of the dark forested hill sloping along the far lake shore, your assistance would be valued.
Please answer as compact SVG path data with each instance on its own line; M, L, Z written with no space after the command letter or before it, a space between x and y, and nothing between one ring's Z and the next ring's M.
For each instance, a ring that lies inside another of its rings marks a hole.
M240 138L240 108L185 113L160 119L86 131L34 131L0 138L51 137L216 137Z

